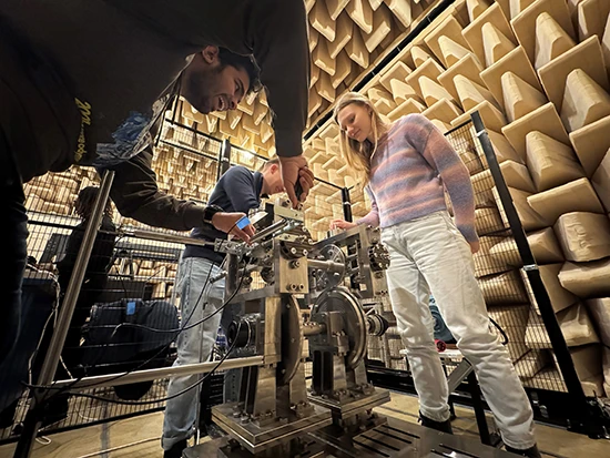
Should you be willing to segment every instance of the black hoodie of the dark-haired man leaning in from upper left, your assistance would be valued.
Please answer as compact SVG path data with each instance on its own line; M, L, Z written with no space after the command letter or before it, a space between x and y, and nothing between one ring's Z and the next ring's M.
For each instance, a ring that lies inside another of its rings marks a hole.
M0 125L23 181L74 163L129 169L150 141L142 125L162 114L164 94L209 44L254 55L275 113L277 154L302 153L309 80L303 0L2 0L0 21L0 96L10 98ZM120 154L104 162L104 145ZM150 160L139 165L154 181Z

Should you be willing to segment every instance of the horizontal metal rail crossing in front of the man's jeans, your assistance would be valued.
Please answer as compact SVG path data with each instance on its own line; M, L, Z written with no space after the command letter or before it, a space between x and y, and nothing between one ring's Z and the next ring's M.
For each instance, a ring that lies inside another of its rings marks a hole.
M260 366L264 362L263 356L248 356L245 358L230 358L225 359L218 366L217 362L210 363L195 363L185 364L183 366L160 367L156 369L134 370L129 374L109 374L96 375L93 377L84 377L80 380L59 380L53 384L53 388L62 388L69 386L72 388L87 388L87 387L103 387L103 386L118 386L129 385L140 381L149 381L157 378L164 378L170 376L186 376L192 374L207 374L214 370L227 370L237 369L240 367ZM217 367L216 367L217 366Z

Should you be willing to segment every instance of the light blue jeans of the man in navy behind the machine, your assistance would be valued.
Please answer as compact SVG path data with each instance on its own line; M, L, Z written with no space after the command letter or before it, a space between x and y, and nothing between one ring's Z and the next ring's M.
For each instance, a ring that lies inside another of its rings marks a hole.
M175 287L181 294L181 326L189 327L205 317L210 318L180 333L176 340L177 358L174 366L203 363L210 359L223 312L218 312L214 316L211 315L223 305L224 279L212 284L206 279L214 277L220 272L221 268L217 265L205 258L187 257L180 262ZM167 386L167 396L175 396L195 384L201 377L201 374L172 377ZM165 450L193 435L200 406L199 395L200 389L193 388L167 400L162 437L162 446Z

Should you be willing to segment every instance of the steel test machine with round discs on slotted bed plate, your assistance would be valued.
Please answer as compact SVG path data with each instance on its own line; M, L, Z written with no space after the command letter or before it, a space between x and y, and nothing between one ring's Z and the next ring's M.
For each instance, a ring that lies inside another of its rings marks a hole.
M237 403L212 409L227 436L186 449L185 458L512 456L373 411L390 399L365 369L367 336L388 327L375 307L387 295L389 265L378 228L314 243L289 201L265 212L251 245L216 246L228 255L226 297L242 311L227 342L262 355L262 364L241 369ZM262 287L252 287L254 272Z

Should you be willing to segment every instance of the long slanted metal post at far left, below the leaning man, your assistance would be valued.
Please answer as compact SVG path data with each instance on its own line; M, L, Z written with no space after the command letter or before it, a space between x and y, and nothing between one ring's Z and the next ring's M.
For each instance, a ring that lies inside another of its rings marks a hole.
M77 262L74 263L74 268L72 269L72 275L70 276L70 282L68 283L68 288L65 289L65 296L63 297L63 302L59 311L58 322L37 379L38 385L40 386L50 385L55 377L58 363L61 357L61 350L63 348L63 344L65 343L65 336L68 335L72 315L74 314L74 308L81 291L87 265L89 264L89 258L91 257L91 252L93 251L96 233L102 224L104 207L110 195L110 189L113 180L114 172L106 170L102 177L98 196L95 197L91 218L87 223L83 241L77 255ZM28 458L32 452L34 439L41 423L39 400L47 394L47 389L33 391L34 396L31 399L23 425L23 431L21 432L21 437L19 438L19 442L14 450L14 458Z

